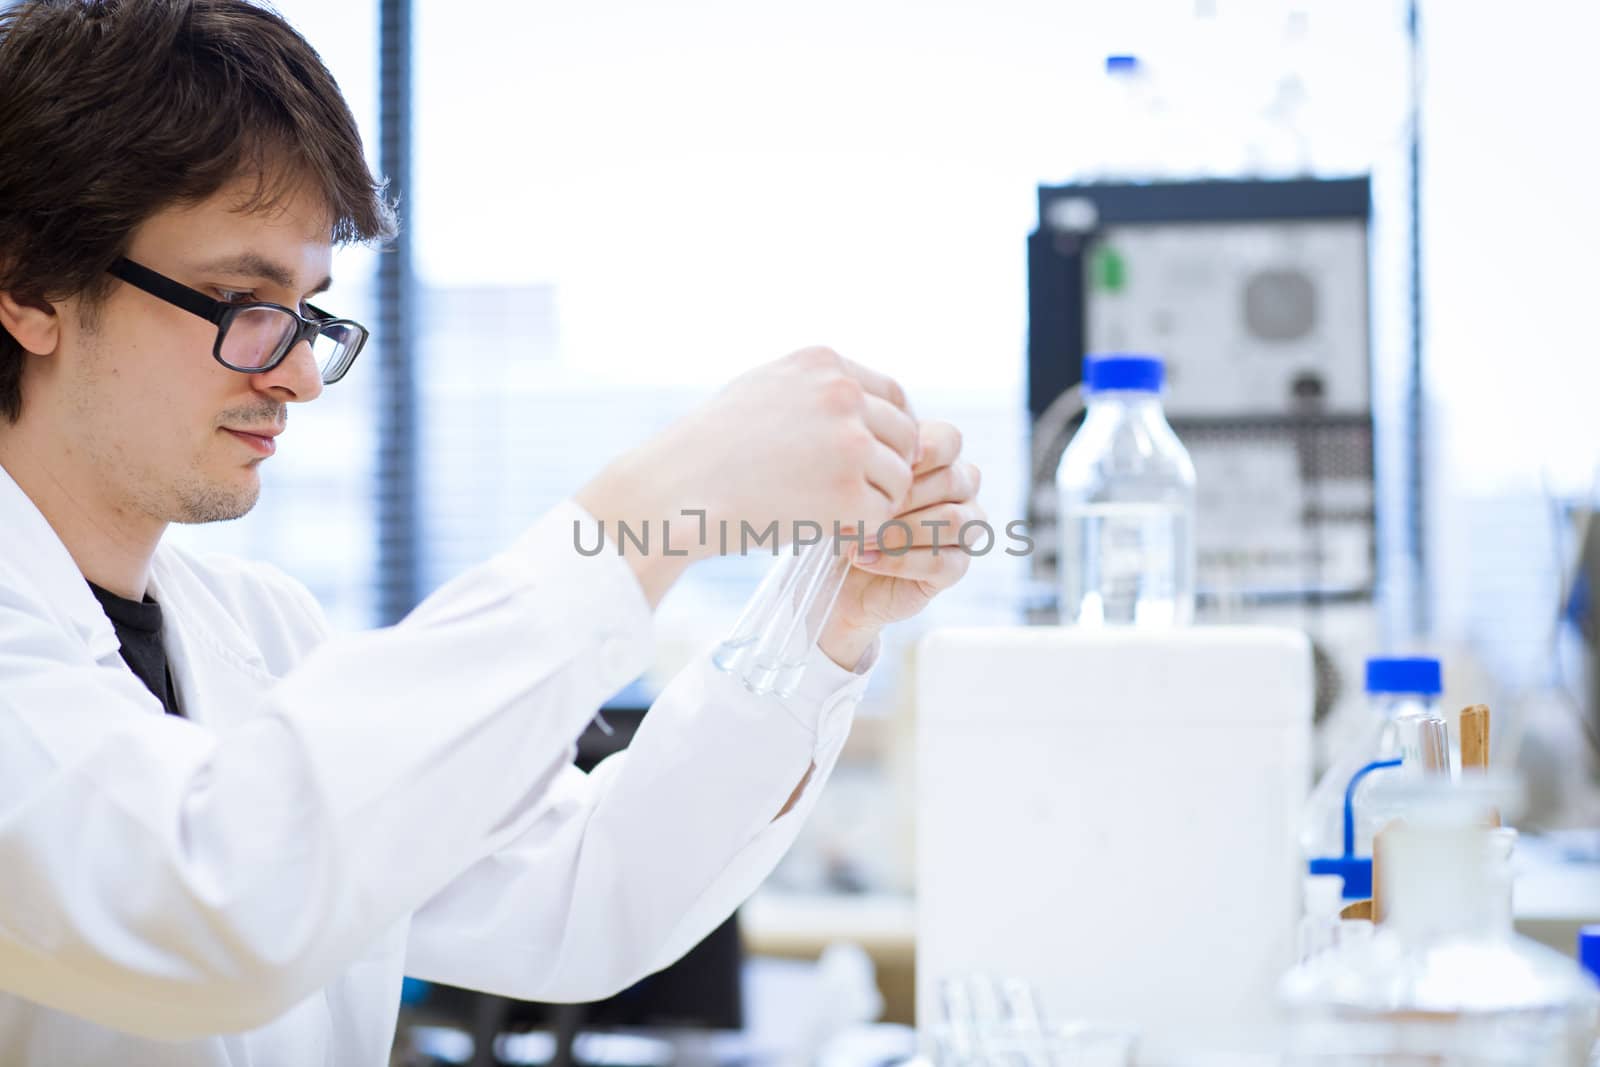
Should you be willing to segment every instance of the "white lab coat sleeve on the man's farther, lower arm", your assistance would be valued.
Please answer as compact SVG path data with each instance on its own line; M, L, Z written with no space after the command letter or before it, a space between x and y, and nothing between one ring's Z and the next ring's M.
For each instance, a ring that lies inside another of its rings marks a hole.
M813 651L789 699L685 669L626 752L570 768L515 841L411 923L406 973L541 1001L611 995L693 949L771 872L838 758L856 672ZM814 765L805 792L774 816Z

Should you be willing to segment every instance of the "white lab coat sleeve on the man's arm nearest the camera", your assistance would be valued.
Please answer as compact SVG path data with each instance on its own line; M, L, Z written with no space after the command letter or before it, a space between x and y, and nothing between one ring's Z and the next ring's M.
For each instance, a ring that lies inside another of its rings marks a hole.
M650 659L637 581L574 523L595 544L555 509L221 733L0 566L0 987L165 1040L251 1029L504 848Z

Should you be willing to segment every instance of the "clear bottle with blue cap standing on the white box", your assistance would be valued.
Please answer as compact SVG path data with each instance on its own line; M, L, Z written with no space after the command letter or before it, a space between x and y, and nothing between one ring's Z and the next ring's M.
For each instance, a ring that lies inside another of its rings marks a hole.
M1162 360L1085 362L1086 414L1056 467L1069 625L1182 625L1195 603L1195 469L1162 411Z

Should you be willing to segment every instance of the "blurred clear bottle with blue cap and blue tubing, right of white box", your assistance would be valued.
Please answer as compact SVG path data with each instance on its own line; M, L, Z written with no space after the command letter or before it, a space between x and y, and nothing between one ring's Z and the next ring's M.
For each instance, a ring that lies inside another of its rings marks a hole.
M1344 899L1373 894L1373 835L1387 813L1371 800L1376 776L1416 773L1422 723L1443 721L1443 669L1426 656L1366 661L1365 721L1317 782L1301 824L1310 875L1344 878Z

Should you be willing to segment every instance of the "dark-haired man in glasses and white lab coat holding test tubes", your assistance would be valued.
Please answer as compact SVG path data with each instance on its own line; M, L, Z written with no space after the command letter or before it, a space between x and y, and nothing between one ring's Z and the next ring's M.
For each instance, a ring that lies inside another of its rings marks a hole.
M163 545L248 512L288 405L358 354L309 301L336 242L392 227L362 160L322 62L245 0L0 14L3 1064L376 1067L405 973L629 985L760 883L878 630L965 571L923 526L981 517L958 435L826 349L742 376L392 629L330 635L283 574ZM584 776L576 736L717 537L578 545L683 509L917 539L862 553L792 697L702 659Z

